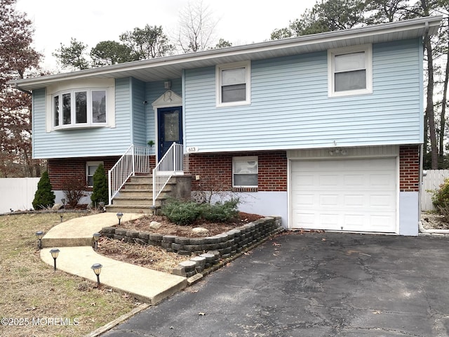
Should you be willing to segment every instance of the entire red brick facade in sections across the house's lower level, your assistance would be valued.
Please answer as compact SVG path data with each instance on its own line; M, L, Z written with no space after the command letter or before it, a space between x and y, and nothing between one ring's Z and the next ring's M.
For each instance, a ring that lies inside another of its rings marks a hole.
M232 188L232 157L257 157L258 187ZM119 157L86 157L49 159L48 173L53 190L62 190L65 181L86 178L86 162L103 161L105 171L111 169ZM151 166L155 157L151 157ZM417 192L420 187L420 147L401 146L399 150L399 179L401 192ZM235 192L287 191L287 157L285 151L233 152L190 154L189 173L192 191L222 190ZM199 176L199 180L196 180Z

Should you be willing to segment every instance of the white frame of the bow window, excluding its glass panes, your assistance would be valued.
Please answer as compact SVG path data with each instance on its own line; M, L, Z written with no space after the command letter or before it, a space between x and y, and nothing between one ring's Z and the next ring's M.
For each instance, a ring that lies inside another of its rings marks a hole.
M87 122L86 123L76 123L76 100L75 100L75 93L79 93L82 91L86 91L87 92ZM92 91L105 91L105 95L106 95L106 115L105 118L106 120L102 123L94 123L92 121ZM59 91L58 93L53 93L53 95L51 95L51 117L52 117L52 128L53 130L60 130L60 129L65 129L65 128L98 128L101 126L107 126L108 125L108 116L107 116L107 111L108 111L108 100L107 100L107 88L76 88L76 89L72 89L72 90L67 90L67 91ZM56 96L60 96L60 105L62 105L62 95L69 93L70 94L70 113L71 113L71 123L70 124L62 124L62 119L61 117L63 117L63 112L62 112L62 108L60 107L60 118L59 118L59 125L55 126L55 105L54 105L54 99Z

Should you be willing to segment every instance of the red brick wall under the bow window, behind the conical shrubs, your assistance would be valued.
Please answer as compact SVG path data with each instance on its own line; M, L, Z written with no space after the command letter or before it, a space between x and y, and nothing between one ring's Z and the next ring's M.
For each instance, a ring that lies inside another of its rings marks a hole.
M103 161L105 173L112 169L112 166L120 157L85 157L85 158L64 158L48 159L48 176L53 186L53 190L62 190L67 180L86 179L86 162ZM156 157L150 158L150 165L154 167Z

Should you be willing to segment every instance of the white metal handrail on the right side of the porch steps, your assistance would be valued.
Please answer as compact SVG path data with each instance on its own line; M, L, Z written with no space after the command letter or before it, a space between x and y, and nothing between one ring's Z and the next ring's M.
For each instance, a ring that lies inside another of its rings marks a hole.
M156 199L175 174L182 174L187 168L189 160L184 155L182 144L173 143L166 154L163 155L159 164L153 169L153 205Z

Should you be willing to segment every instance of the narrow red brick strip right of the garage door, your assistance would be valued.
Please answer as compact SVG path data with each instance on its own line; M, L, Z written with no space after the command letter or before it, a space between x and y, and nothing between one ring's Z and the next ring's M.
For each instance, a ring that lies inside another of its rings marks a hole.
M401 146L399 149L399 189L401 192L420 190L420 147Z

